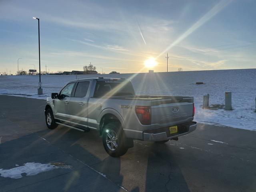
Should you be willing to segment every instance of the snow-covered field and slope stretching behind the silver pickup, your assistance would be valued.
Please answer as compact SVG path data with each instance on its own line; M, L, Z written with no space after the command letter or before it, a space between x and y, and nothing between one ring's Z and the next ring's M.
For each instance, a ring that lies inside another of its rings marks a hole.
M0 94L45 99L76 78L130 78L136 94L194 96L195 120L234 128L256 130L256 69L162 72L140 74L48 75L41 76L44 95L37 96L38 76L0 76ZM196 85L196 82L204 84ZM225 104L225 91L232 92L232 107L225 111L202 109L203 95L210 94L210 104Z

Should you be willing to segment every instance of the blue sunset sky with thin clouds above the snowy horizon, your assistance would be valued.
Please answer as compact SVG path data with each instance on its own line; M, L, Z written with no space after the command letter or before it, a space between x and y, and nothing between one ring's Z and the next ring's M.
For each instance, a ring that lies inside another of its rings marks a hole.
M0 73L256 68L255 0L0 0ZM155 58L156 66L144 65ZM46 67L45 67L46 66Z

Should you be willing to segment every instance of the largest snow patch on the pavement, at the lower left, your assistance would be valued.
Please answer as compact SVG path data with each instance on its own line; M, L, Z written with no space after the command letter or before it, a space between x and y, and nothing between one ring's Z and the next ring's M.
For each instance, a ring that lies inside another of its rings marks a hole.
M35 163L35 162L25 163L23 166L19 166L18 164L16 164L15 166L18 166L18 167L6 169L6 170L0 169L0 176L18 179L18 178L22 178L22 173L25 173L26 176L32 176L32 175L39 174L41 172L46 172L46 171L50 171L58 168L54 165L51 165L50 163L41 164L41 163Z

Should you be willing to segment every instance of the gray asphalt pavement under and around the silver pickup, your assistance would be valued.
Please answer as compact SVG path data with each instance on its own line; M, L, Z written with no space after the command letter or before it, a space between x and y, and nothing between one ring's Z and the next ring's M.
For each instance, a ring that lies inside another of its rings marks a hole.
M178 141L135 141L124 156L112 158L96 131L49 130L44 106L45 100L0 95L0 169L27 162L73 168L19 179L0 176L1 192L256 191L255 131L198 124Z

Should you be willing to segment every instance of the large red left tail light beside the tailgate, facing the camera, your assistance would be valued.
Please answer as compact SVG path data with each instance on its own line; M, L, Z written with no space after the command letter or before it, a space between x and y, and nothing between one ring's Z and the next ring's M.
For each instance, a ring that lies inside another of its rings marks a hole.
M136 106L135 112L143 125L151 124L151 108L150 106Z

